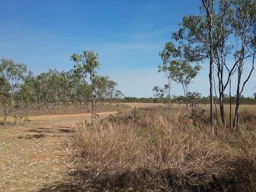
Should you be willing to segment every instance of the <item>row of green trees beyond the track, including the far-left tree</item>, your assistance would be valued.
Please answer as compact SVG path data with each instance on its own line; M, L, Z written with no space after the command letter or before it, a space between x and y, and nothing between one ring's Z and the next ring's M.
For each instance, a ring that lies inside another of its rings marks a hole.
M51 105L81 102L113 102L123 97L117 90L117 83L108 76L94 75L93 85L74 71L49 69L45 73L34 75L27 73L24 64L11 59L0 62L0 102L3 106L6 123L7 116L18 113L20 107L30 105Z

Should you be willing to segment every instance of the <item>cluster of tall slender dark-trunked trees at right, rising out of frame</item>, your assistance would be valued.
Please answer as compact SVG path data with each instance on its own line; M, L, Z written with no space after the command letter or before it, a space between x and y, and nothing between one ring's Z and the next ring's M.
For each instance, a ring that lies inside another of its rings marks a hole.
M210 60L210 116L213 125L213 65L217 65L219 80L219 100L222 123L225 121L223 95L231 76L237 70L237 96L233 127L238 123L239 98L243 87L254 69L255 58L255 1L253 0L202 0L203 15L189 15L183 18L181 29L173 34L183 49L185 58ZM234 38L235 37L235 38ZM230 42L236 39L236 47ZM184 43L186 42L186 44ZM226 57L235 55L234 63L228 67ZM252 58L252 68L240 90L244 60ZM227 75L224 74L227 70ZM226 76L226 82L224 82Z

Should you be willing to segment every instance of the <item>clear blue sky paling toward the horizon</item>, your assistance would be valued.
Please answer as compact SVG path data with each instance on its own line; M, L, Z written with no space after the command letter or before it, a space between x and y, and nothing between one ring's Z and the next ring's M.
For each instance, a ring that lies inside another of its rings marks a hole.
M153 97L153 87L164 84L158 53L183 15L199 13L200 2L0 0L0 58L25 63L38 74L70 70L71 54L94 50L102 64L99 73L116 81L125 95ZM208 70L203 63L190 90L209 94ZM255 71L244 95L252 95L254 86ZM182 94L181 87L173 84L172 93Z

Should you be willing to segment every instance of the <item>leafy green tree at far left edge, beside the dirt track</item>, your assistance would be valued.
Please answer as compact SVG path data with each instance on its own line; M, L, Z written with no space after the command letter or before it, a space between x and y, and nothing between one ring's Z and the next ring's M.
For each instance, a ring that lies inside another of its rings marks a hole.
M6 118L13 105L14 93L20 89L21 82L25 78L27 67L24 64L15 63L11 59L1 59L0 64L0 97L4 107L2 124L6 124Z

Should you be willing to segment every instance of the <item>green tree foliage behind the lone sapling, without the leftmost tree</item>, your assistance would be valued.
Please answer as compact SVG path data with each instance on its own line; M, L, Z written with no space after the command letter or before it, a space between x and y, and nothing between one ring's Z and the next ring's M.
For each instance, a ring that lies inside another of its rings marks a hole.
M106 86L99 83L99 76L93 77L93 86L97 89L97 98L101 100L113 100L122 97L122 92L116 90L116 83L109 77L102 77ZM29 72L24 83L15 93L15 97L24 105L41 103L69 103L69 102L89 102L90 95L93 97L92 85L85 79L78 79L70 72L49 70L34 77Z

